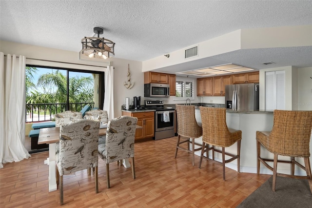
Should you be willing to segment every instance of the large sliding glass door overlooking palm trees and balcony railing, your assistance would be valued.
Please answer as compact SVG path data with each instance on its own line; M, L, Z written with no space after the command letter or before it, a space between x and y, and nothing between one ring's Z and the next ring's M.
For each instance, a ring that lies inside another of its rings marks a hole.
M50 121L85 105L102 108L104 72L26 65L26 122Z

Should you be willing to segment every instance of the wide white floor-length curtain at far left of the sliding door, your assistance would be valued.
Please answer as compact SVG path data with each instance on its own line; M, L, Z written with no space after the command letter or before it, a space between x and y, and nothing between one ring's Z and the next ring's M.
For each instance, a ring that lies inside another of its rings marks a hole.
M30 157L25 143L25 56L0 52L0 168Z

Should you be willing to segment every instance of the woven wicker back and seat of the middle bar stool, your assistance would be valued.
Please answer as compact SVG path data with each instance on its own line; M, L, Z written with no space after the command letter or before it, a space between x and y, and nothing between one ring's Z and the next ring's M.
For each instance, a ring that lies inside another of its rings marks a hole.
M203 141L215 146L231 146L235 138L226 125L226 109L200 106L201 124L203 127Z

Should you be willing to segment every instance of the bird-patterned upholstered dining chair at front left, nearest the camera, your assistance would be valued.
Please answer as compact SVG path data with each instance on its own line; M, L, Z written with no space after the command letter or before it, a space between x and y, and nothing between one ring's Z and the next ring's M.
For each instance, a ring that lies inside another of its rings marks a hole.
M59 151L56 150L55 158L61 205L64 204L63 175L95 167L95 186L98 193L98 131L99 122L86 119L60 126Z

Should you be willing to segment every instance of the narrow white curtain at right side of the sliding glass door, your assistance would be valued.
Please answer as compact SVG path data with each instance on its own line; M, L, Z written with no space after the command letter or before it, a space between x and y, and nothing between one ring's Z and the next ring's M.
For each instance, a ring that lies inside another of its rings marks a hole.
M114 67L107 66L105 73L105 93L103 110L108 113L108 119L115 118L114 116Z

